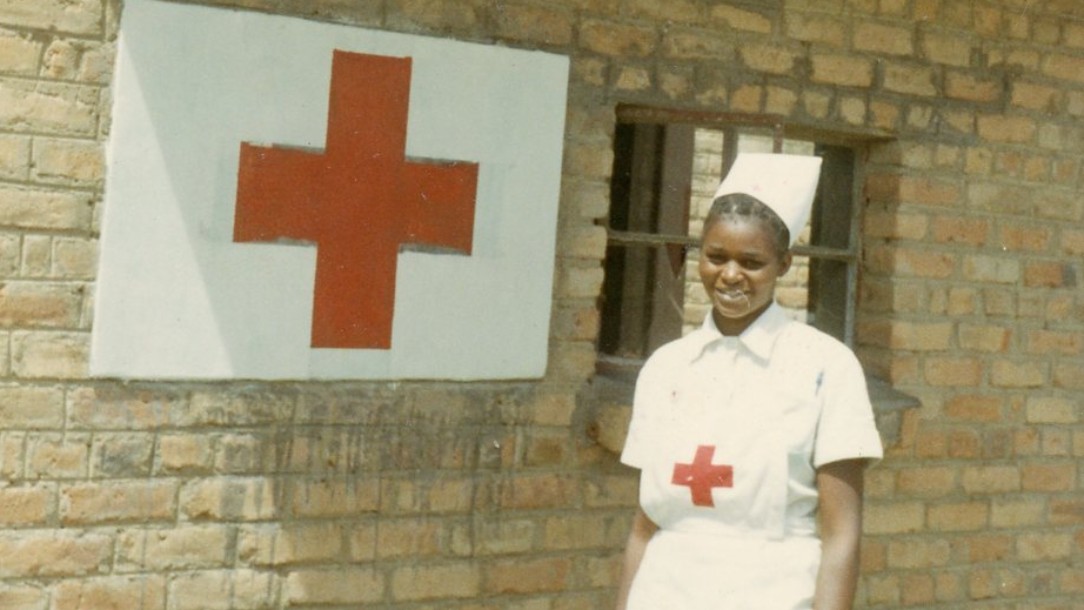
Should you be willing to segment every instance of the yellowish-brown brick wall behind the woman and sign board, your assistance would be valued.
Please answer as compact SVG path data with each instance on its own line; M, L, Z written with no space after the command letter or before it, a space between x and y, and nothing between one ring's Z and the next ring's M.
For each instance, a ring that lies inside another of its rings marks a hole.
M201 3L572 57L549 372L87 378L121 7L0 2L0 608L607 607L635 499L589 391L619 102L882 138L857 339L922 406L868 476L860 605L1079 607L1080 2Z

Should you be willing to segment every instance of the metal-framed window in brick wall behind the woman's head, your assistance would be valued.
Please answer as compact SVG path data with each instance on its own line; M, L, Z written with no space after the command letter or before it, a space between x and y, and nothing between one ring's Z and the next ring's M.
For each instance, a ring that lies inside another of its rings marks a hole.
M697 273L698 236L725 169L739 152L817 155L810 225L776 300L797 320L851 343L857 283L860 148L802 134L779 117L619 106L599 368L634 373L655 348L695 328L709 304Z

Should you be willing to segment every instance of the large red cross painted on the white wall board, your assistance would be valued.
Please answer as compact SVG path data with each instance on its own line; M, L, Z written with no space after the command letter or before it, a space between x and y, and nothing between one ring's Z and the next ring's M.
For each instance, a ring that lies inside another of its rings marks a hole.
M335 51L324 151L241 144L235 242L317 245L312 347L391 347L404 245L470 254L478 165L405 158L411 60Z

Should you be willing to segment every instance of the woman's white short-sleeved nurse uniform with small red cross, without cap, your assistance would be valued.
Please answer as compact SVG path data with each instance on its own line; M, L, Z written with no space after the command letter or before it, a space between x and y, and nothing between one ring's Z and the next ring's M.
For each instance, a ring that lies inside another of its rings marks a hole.
M621 460L659 530L629 610L812 608L816 468L880 457L850 349L775 304L739 337L709 314L636 381Z

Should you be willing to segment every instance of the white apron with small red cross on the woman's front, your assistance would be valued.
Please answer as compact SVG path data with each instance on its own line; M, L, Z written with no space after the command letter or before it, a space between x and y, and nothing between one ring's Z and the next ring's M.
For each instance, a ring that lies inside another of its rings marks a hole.
M657 420L640 499L659 530L629 610L812 608L821 544L812 515L787 522L787 490L811 483L788 464L809 464L818 410L779 366L735 365L737 351L710 346L654 394L672 417Z

